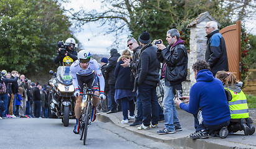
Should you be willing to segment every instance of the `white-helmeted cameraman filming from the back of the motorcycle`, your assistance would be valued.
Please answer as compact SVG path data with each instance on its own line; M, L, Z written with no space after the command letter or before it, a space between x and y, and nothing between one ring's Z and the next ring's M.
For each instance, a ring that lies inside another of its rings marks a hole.
M58 43L58 55L54 58L54 63L59 63L59 66L70 66L73 61L77 60L77 51L75 50L75 39L67 38L65 44Z

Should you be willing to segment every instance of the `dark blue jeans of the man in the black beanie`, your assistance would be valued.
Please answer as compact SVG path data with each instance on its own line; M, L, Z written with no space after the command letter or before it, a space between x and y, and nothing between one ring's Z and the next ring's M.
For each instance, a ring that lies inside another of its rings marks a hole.
M149 126L158 124L159 108L158 97L156 96L156 86L143 83L138 86L139 97L143 107L143 124Z

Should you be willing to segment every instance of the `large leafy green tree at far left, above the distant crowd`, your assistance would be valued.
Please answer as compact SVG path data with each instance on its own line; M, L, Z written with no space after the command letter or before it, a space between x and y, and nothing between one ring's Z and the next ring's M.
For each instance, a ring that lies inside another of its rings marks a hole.
M0 68L26 74L54 68L57 42L71 36L63 13L54 0L2 0Z

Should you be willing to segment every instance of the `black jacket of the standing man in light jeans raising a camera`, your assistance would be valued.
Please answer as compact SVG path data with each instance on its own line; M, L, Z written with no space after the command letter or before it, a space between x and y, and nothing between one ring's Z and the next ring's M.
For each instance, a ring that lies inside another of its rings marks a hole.
M174 47L168 45L163 51L158 50L158 60L166 63L164 82L166 86L180 84L187 76L187 50L183 45L184 41L179 39Z

